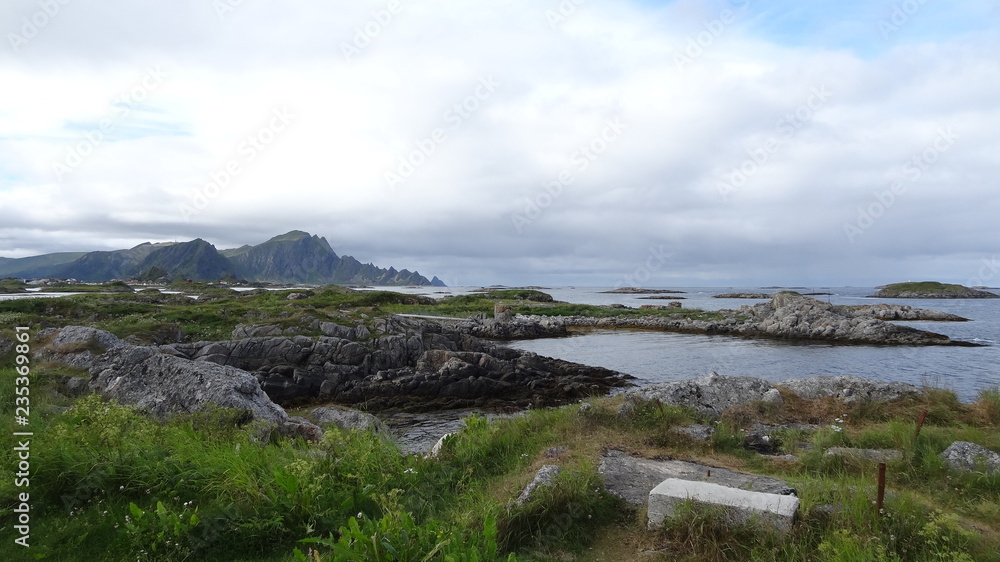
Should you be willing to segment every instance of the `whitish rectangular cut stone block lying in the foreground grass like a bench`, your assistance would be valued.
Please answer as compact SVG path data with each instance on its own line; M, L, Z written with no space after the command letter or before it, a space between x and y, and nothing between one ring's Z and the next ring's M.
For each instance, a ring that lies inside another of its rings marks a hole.
M668 478L649 493L648 528L658 529L687 501L720 506L728 519L742 523L757 516L781 532L788 532L795 522L799 498L791 495L751 492L709 482Z

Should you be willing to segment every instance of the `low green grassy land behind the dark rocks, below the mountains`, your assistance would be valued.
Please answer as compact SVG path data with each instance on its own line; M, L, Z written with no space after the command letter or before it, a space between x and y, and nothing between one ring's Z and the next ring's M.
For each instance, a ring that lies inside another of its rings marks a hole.
M74 286L76 287L76 286ZM353 291L326 286L314 290L238 292L199 283L176 287L183 294L162 294L154 289L136 293L73 295L50 299L0 302L0 321L11 325L62 327L92 326L138 343L162 343L163 334L181 330L192 341L228 339L238 324L277 324L303 327L319 319L345 325L365 323L375 317L406 313L467 317L493 315L498 302L518 314L550 316L681 316L717 319L717 313L697 309L622 310L591 305L546 302L547 294L529 290L503 290L434 300L390 291ZM288 300L292 293L303 298ZM189 296L190 295L190 296ZM197 296L198 298L191 298ZM306 330L304 333L308 333ZM318 334L318 332L317 332Z

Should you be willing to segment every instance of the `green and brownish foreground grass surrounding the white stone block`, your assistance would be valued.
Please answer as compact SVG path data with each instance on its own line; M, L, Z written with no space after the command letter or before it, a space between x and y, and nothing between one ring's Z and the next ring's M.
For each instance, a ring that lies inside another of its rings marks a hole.
M955 473L937 456L958 439L1000 449L996 426L980 421L991 391L971 405L938 393L882 409L829 400L750 407L731 412L704 443L671 431L710 423L689 410L639 402L620 416L621 397L600 398L586 411L571 405L495 422L469 418L435 460L338 430L320 443L261 443L255 426L240 426L239 413L226 410L160 423L96 397L72 403L43 391L56 388L44 368L38 376L32 553L51 559L419 560L434 552L430 559L604 560L646 552L692 561L1000 560L1000 474ZM13 379L12 370L0 371L4 395L13 394ZM916 437L911 414L932 402L940 402L939 415ZM69 404L65 412L51 408ZM0 409L13 431L11 406ZM801 462L740 447L741 424L800 419L804 411L824 429L781 435ZM836 422L825 416L844 414L843 430L831 429ZM814 448L800 449L800 440ZM885 514L870 503L875 467L824 456L832 445L905 452L889 467ZM547 457L556 446L564 452ZM647 532L643 510L604 490L597 466L609 448L786 479L799 490L801 517L778 536L690 506ZM12 466L10 440L0 443L0 457ZM545 464L563 467L554 485L513 505ZM12 479L0 481L5 533L13 532L17 491ZM6 541L0 556L19 559L18 548Z

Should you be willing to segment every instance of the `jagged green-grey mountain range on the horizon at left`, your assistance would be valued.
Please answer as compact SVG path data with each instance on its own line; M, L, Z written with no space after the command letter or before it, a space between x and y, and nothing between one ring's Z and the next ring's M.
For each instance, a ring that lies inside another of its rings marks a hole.
M205 240L140 244L128 250L0 258L0 275L57 277L80 281L240 278L271 283L431 285L417 272L382 269L338 256L325 238L293 230L256 246L218 250Z

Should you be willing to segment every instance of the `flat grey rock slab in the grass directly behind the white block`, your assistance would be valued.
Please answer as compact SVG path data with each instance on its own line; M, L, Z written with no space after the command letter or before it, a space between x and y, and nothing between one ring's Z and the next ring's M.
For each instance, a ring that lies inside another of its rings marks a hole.
M604 486L609 493L635 506L644 505L649 492L667 478L712 482L730 488L782 495L795 493L787 482L768 476L684 461L654 461L616 450L608 451L601 458L598 472L604 475Z

